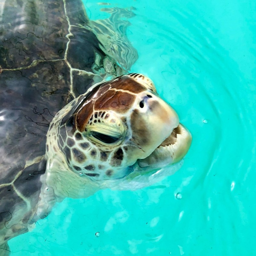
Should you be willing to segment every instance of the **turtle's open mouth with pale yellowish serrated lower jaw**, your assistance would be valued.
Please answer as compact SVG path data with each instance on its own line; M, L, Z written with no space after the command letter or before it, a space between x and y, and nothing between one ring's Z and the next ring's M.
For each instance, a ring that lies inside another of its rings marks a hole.
M138 159L140 167L163 168L178 163L188 152L192 137L190 132L179 124L148 157Z

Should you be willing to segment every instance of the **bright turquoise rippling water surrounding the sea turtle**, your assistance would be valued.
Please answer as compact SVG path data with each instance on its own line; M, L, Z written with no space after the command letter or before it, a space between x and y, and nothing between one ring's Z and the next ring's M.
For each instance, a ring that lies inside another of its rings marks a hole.
M256 255L256 3L241 0L86 1L136 14L128 36L148 75L193 135L183 167L137 191L65 199L12 256ZM95 233L98 236L95 236Z

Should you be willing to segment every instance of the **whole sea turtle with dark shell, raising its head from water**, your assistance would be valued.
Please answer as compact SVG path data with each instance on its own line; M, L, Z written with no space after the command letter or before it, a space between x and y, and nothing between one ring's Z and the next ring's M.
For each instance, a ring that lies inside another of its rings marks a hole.
M56 201L176 170L191 136L148 77L124 75L136 51L80 0L0 0L0 14L3 256Z

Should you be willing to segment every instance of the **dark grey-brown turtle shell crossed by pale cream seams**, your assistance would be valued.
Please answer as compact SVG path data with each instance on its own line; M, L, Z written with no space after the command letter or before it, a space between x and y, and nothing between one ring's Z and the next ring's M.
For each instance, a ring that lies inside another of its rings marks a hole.
M1 245L35 221L52 118L123 69L102 50L80 0L1 0L0 14Z

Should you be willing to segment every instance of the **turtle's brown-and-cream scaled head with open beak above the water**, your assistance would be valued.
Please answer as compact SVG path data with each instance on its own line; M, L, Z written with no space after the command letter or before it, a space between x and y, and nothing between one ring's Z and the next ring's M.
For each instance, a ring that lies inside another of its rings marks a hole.
M56 118L64 169L101 184L177 163L191 143L176 112L141 74L96 84Z

